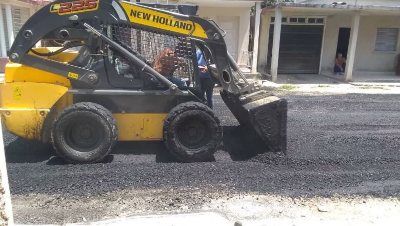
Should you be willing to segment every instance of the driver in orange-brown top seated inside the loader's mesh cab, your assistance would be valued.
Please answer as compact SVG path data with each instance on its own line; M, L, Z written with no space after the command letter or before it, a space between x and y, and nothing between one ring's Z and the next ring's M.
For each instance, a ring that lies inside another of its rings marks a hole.
M183 71L187 71L187 64L178 58L174 48L165 48L159 52L151 67L178 87L187 86L185 80L173 78L173 73L177 68L181 67Z

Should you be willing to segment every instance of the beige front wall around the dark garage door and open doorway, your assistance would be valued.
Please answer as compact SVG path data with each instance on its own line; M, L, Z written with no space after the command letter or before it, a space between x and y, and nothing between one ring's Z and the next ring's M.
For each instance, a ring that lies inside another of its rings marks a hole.
M283 16L290 15L326 16L325 35L321 58L321 73L332 73L339 28L351 27L352 14L343 12L334 15L317 13L283 14ZM258 72L265 72L266 63L267 61L271 60L267 59L270 16L273 16L273 14L262 14L257 67ZM397 54L400 53L400 39L397 41L397 51L395 52L376 52L374 49L377 28L381 27L400 29L400 23L398 23L398 21L400 21L400 16L365 15L361 17L354 62L355 73L394 73L397 65Z

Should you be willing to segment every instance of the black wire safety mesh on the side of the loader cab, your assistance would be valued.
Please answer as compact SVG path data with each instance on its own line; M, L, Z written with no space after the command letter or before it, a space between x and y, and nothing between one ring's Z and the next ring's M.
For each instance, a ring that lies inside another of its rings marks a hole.
M113 41L166 78L192 82L195 49L193 51L191 41L186 37L122 23L107 25L107 33ZM119 74L135 77L134 70L130 69L133 63L111 49L108 56Z

